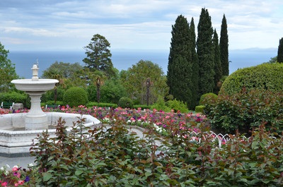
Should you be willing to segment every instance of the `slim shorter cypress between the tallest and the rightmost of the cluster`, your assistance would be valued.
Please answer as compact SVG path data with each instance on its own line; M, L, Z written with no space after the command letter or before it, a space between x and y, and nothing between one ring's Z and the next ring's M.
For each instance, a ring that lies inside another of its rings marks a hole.
M213 44L214 44L214 93L218 95L218 92L220 90L219 82L222 78L222 66L221 66L221 60L220 60L220 47L219 47L219 40L216 30L214 30L213 35Z

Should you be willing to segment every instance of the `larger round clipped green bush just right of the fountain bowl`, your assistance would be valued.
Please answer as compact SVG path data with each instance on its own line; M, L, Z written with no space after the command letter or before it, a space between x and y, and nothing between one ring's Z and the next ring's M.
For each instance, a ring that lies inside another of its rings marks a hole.
M88 102L88 94L83 88L69 88L64 93L63 102L65 105L68 104L70 107L78 107L81 104L86 105Z

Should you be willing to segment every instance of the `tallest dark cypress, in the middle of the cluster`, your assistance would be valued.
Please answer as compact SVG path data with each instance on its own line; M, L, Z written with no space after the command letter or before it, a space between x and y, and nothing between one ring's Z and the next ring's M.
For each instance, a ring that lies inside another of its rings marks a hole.
M202 8L197 25L197 56L199 58L199 97L214 89L214 47L212 20L207 9Z

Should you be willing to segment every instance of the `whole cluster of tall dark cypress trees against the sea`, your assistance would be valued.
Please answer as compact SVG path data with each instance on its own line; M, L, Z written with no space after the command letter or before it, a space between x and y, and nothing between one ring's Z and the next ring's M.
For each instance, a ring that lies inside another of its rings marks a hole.
M175 20L171 34L167 71L169 93L195 109L201 95L217 94L221 78L229 76L226 18L224 15L222 19L220 42L205 8L202 8L197 25L197 40L194 19L188 23L182 15Z

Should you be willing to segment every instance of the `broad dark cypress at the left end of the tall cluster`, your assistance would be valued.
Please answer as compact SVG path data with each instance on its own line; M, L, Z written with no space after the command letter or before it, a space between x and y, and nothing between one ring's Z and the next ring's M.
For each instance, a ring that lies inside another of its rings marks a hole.
M192 64L190 27L187 18L180 15L172 25L172 38L168 58L167 84L169 93L187 104L192 99ZM189 106L190 107L190 106Z

